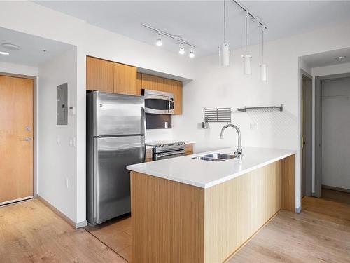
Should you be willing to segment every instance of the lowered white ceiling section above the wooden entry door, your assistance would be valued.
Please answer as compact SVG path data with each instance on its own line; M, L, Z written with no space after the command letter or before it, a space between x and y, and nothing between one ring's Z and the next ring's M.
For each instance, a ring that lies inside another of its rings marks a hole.
M1 46L2 43L13 43L20 46L20 50L8 50ZM1 62L38 67L71 48L73 46L66 43L0 27L0 51L10 53L10 55L0 55ZM42 49L47 52L43 53Z

